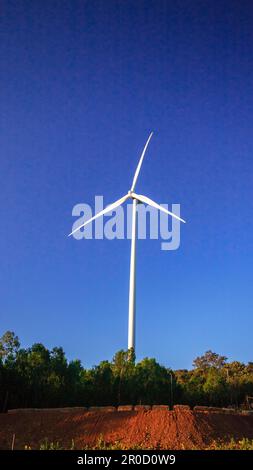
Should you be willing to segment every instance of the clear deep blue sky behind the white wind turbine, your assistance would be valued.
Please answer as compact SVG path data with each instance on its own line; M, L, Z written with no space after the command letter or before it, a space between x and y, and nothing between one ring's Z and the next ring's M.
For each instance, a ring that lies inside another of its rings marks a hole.
M78 202L180 203L141 240L137 358L252 361L253 4L1 2L1 334L89 367L127 347L129 240L67 238Z

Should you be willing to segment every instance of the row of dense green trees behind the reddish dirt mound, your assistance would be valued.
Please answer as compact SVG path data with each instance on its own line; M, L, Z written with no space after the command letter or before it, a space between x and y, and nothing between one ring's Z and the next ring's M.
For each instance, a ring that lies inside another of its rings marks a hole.
M253 396L253 362L228 362L207 351L192 370L172 370L133 350L85 369L61 347L20 346L14 332L0 338L0 412L11 408L188 404L236 406Z

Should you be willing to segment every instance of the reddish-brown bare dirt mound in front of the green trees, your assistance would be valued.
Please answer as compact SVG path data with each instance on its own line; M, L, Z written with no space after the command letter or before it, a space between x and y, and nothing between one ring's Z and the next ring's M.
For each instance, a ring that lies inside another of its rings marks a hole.
M253 439L253 416L191 411L176 407L133 411L41 411L0 414L0 449L32 449L58 442L69 449L94 446L103 439L124 448L203 449L213 440Z

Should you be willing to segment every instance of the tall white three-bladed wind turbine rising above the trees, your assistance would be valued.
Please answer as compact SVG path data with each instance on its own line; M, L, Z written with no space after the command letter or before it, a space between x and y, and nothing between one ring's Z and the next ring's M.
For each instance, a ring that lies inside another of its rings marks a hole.
M135 350L135 297L136 297L136 209L137 209L137 204L139 203L144 203L144 204L149 204L152 207L155 207L155 209L159 209L162 212L165 212L165 214L171 215L175 219L179 220L180 222L184 222L185 220L181 219L178 217L176 214L173 214L173 212L168 211L164 207L160 206L156 202L152 201L152 199L149 199L147 196L142 196L141 194L136 194L134 192L135 186L137 183L137 179L140 173L141 165L148 147L148 144L151 140L151 137L153 135L153 132L148 137L148 140L145 144L145 147L142 151L138 166L136 168L133 182L131 189L128 191L128 193L118 199L117 201L113 202L109 206L107 206L105 209L102 211L98 212L96 215L91 217L89 220L84 222L82 225L80 225L78 228L73 230L68 236L70 237L73 235L73 233L77 232L80 230L80 228L85 227L85 225L89 224L93 220L97 219L101 215L107 214L107 212L111 212L116 207L120 206L123 204L123 202L127 201L127 199L132 199L133 200L133 206L132 206L132 235L131 235L131 257L130 257L130 282L129 282L129 312L128 312L128 349L133 348Z

